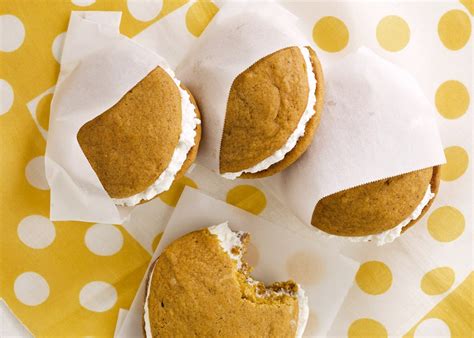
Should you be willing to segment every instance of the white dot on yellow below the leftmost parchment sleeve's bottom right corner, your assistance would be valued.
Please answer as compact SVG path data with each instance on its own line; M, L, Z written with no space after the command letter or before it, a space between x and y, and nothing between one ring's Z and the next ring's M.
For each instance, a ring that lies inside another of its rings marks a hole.
M84 241L96 255L111 256L122 248L123 236L114 225L98 223L87 229Z

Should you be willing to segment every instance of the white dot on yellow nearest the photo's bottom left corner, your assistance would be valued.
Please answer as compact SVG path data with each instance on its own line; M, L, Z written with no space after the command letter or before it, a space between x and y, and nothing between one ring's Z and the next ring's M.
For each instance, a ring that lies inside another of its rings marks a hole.
M43 303L49 296L48 282L36 272L24 272L18 276L13 286L15 296L25 305Z

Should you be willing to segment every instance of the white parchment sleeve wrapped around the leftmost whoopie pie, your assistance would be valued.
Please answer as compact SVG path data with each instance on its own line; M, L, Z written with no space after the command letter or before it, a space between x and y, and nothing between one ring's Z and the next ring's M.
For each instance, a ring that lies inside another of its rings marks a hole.
M72 12L51 104L45 167L52 220L121 223L77 142L77 132L164 61L119 33L121 13Z

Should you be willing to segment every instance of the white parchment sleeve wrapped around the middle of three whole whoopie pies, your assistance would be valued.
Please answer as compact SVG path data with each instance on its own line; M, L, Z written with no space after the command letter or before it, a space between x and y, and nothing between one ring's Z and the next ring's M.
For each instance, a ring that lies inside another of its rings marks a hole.
M297 18L269 1L226 2L176 74L205 112L198 161L219 173L227 99L234 79L259 59L309 42Z

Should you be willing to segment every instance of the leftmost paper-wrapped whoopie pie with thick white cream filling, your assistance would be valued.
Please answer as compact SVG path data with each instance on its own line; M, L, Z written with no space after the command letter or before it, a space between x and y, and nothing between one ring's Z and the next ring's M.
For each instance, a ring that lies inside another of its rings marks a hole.
M127 206L168 190L194 161L200 138L194 98L161 67L77 134L104 189Z

